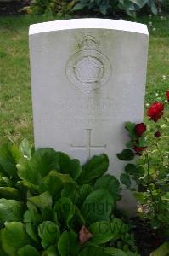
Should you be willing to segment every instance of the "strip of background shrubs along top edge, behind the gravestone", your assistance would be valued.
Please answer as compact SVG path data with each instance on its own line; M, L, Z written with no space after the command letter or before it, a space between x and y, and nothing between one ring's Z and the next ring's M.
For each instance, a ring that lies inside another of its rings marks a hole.
M28 12L36 14L52 15L114 15L124 12L129 16L135 16L144 8L149 9L154 15L157 7L163 0L33 0ZM164 3L165 4L165 3Z

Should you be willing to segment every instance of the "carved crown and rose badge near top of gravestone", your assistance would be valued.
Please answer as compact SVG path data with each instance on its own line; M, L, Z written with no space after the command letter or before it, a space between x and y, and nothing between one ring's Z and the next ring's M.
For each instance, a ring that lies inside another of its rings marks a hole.
M99 51L99 42L91 36L83 38L80 51L70 56L66 75L71 84L90 92L105 84L111 75L110 61Z

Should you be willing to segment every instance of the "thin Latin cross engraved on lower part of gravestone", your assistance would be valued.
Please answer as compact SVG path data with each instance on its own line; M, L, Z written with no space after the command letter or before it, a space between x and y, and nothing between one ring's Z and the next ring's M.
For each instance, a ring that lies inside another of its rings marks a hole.
M87 158L90 158L92 156L92 149L103 149L105 150L107 145L104 144L102 146L98 146L98 145L92 145L92 129L86 129L87 131L87 136L86 136L86 145L79 145L79 146L74 146L74 145L70 145L71 148L76 149L86 149L87 150Z

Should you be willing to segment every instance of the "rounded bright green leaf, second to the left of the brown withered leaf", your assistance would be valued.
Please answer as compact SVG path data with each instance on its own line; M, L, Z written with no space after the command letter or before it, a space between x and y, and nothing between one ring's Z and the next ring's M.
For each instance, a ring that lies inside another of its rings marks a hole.
M58 242L60 232L59 226L51 221L44 221L38 226L38 234L41 237L43 248L47 248Z

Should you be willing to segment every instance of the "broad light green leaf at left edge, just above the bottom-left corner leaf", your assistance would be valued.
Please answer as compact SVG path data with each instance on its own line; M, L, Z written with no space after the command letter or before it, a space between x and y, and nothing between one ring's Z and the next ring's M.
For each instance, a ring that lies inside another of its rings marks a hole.
M21 221L24 215L24 204L20 201L0 199L0 221Z

